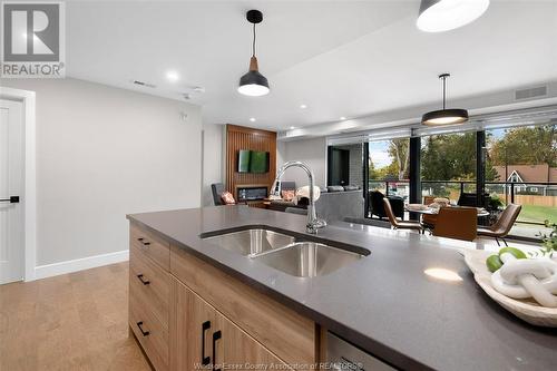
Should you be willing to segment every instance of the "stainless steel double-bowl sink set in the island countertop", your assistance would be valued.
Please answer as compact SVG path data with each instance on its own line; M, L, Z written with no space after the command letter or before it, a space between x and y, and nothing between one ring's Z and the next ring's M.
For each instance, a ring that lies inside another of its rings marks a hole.
M204 240L297 277L325 275L367 255L319 242L297 241L264 228L212 234Z

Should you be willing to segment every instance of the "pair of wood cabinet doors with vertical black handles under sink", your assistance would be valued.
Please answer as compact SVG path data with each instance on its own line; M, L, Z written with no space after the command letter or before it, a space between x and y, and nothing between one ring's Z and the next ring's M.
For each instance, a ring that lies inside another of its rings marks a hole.
M234 370L253 370L255 364L284 364L176 279L172 282L169 332L174 371L217 371L231 365Z

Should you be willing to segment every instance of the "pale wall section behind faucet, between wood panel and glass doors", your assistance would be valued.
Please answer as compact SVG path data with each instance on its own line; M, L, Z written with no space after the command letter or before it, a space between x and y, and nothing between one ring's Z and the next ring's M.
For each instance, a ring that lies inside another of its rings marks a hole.
M284 141L282 145L277 146L280 155L277 158L282 158L283 162L290 160L301 160L306 163L313 170L315 176L315 185L325 186L326 185L326 138L313 138L313 139L302 139L294 141ZM307 184L307 176L305 172L301 168L290 168L286 170L283 177L284 180L294 180L296 186L301 187Z

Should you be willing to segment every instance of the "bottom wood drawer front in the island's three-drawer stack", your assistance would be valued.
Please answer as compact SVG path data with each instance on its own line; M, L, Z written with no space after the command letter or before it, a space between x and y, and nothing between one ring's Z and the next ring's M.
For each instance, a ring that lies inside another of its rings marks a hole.
M157 371L168 370L168 330L129 293L129 326Z

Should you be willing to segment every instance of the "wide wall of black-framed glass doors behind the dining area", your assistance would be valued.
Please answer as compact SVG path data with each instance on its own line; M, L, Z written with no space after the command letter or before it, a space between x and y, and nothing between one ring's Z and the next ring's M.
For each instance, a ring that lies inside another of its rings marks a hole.
M494 223L506 205L520 204L511 235L539 238L548 233L546 221L557 223L557 108L555 118L528 115L534 113L509 116L518 123L489 117L476 125L332 138L328 184L360 186L364 217L373 217L373 192L404 203L437 196L486 207L490 217L478 219L485 225ZM521 126L522 121L536 125Z

